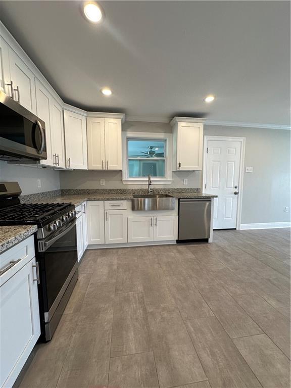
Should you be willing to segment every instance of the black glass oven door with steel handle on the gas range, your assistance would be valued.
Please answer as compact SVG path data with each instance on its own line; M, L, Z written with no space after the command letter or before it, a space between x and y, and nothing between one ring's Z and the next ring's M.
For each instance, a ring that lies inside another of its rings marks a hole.
M78 267L76 220L49 238L38 240L41 318L50 322ZM64 304L64 303L63 303Z

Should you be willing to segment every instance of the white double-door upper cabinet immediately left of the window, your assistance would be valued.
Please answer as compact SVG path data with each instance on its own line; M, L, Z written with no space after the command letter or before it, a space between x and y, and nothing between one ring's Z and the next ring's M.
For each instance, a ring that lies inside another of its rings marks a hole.
M122 118L87 118L89 170L122 170L121 121Z

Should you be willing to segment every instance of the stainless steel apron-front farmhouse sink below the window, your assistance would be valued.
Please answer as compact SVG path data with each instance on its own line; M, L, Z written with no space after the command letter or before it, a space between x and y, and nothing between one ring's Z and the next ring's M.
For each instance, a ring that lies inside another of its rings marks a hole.
M174 210L176 199L168 194L134 195L131 200L133 211Z

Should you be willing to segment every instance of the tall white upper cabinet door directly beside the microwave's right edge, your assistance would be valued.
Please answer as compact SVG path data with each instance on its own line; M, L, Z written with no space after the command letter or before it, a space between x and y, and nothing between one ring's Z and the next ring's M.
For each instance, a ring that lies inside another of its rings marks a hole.
M35 94L36 94L36 114L45 123L45 147L47 158L41 160L40 163L46 166L56 165L56 156L52 150L52 130L51 130L51 94L46 88L35 78Z

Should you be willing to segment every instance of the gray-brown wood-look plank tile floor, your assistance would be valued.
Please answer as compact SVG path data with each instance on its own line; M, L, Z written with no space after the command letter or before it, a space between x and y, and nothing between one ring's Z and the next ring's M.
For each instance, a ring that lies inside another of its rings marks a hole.
M21 388L289 388L289 229L87 251Z

